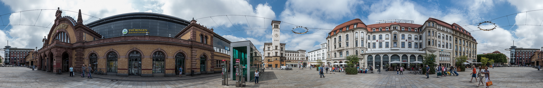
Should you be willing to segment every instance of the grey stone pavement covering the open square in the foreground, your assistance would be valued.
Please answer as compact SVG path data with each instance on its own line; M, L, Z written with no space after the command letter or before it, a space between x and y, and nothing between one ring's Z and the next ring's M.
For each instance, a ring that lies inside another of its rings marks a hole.
M348 75L344 72L325 74L319 78L316 70L266 70L262 72L259 84L247 82L247 87L476 87L470 83L468 72L460 76L430 78L420 74L396 72L359 73ZM489 69L491 87L543 87L543 70L531 67L495 67ZM32 71L25 67L0 67L0 87L235 87L235 81L228 86L221 85L220 74L184 77L118 77L92 75L93 79L81 78L80 74L69 77L69 73L52 74ZM112 79L118 81L111 81Z

